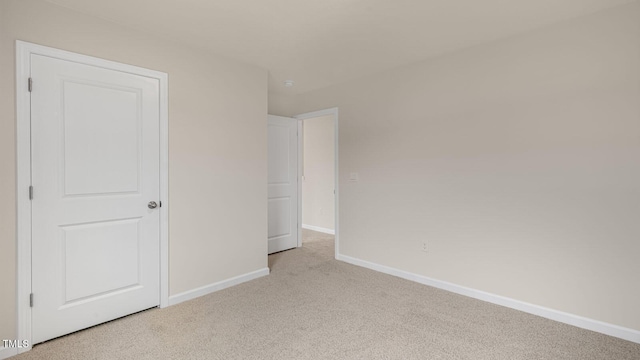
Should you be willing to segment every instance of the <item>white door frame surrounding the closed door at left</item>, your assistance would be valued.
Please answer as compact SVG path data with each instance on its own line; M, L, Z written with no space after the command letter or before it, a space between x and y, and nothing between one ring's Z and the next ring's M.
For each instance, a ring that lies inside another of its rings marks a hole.
M19 348L22 353L31 349L31 100L29 77L31 55L43 55L111 70L157 79L160 83L160 307L169 305L169 112L168 75L132 65L121 64L91 56L80 55L46 46L16 41L16 135L17 135L17 275L16 275L16 334L17 339L27 340L28 347ZM33 86L37 88L37 79ZM35 189L35 196L37 189Z

